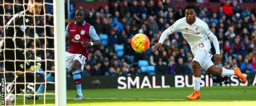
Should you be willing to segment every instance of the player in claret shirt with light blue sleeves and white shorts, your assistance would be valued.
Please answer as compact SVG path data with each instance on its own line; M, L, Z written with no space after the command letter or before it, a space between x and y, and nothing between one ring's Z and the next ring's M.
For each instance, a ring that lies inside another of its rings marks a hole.
M69 40L70 45L68 51L65 53L66 70L71 71L75 86L77 88L77 96L74 100L84 99L82 95L81 75L80 72L84 69L85 60L88 58L88 47L101 45L101 40L98 37L95 29L89 23L85 22L85 12L82 9L75 11L75 22L71 22L66 27L66 39ZM90 38L93 42L90 42ZM54 73L46 76L46 82L54 81ZM43 82L45 82L43 80ZM41 93L45 88L41 84L36 94ZM26 95L27 99L34 99L33 95ZM35 96L38 99L38 95Z

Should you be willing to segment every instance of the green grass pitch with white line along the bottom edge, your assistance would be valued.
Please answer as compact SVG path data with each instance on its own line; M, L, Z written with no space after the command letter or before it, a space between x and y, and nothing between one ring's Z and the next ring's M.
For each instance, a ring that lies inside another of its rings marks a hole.
M201 87L199 100L186 99L193 88L144 88L144 89L83 89L85 100L73 101L76 90L67 91L68 106L84 105L255 105L256 86ZM54 93L54 91L47 91ZM17 96L16 105L23 105L23 96ZM55 104L54 95L46 95L46 106ZM26 106L33 100L25 100ZM43 105L43 96L35 102Z

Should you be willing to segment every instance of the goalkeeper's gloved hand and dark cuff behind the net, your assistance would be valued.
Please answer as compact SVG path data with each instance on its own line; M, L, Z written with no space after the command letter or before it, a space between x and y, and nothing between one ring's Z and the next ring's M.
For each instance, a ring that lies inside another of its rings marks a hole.
M42 59L40 57L32 55L32 53L27 50L24 53L26 53L27 61L31 64L31 70L36 70L41 66L41 63L39 63L39 61L41 61Z

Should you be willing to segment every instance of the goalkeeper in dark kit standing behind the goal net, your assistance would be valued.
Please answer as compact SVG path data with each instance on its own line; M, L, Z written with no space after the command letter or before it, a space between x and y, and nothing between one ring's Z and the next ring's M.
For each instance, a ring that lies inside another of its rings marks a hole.
M7 105L13 105L15 94L21 93L21 89L25 88L24 84L14 85L15 80L18 83L24 83L26 81L27 84L34 82L34 73L31 72L41 66L38 62L41 58L25 50L24 42L25 37L30 33L30 27L26 25L31 26L33 24L33 15L39 15L41 7L41 0L29 0L27 10L14 15L14 17L7 22L2 35L0 35L0 60L6 60L4 61L6 71L16 70L15 78L12 82L13 86L10 87L10 92L6 97ZM12 60L17 61L14 62ZM25 73L24 75L24 71L30 73Z

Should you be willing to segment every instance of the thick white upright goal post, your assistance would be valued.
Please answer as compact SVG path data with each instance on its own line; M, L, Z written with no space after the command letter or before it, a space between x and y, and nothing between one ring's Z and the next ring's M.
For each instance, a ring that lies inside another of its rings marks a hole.
M66 106L65 0L53 0L55 51L55 106Z

